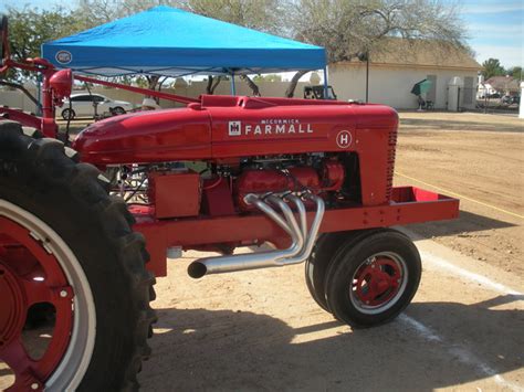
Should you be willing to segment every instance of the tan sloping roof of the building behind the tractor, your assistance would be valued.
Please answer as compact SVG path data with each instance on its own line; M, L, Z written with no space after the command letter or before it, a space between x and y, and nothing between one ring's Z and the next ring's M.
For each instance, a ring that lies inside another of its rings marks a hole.
M360 63L354 60L350 63ZM434 40L389 38L374 53L369 63L382 66L428 67L479 71L482 66L463 47Z

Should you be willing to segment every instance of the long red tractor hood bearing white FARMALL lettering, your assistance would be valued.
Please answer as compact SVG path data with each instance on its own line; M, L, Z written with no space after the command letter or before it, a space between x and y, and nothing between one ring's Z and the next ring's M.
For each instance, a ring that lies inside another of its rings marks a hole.
M282 153L386 152L397 113L382 105L203 95L185 108L97 121L73 147L97 166ZM366 141L367 140L367 141Z

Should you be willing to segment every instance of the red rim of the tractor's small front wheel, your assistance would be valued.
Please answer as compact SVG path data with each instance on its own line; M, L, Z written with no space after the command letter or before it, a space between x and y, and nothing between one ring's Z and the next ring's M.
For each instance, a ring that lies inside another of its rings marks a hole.
M350 299L363 312L379 312L392 306L406 288L404 259L382 253L366 259L353 276Z

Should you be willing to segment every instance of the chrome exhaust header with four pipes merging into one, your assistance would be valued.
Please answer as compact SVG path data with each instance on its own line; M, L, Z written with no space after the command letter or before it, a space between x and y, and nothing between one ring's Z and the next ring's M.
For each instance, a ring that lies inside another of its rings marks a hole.
M324 216L325 205L324 200L310 192L303 193L301 197L313 200L316 204L316 213L310 232L307 232L306 209L301 198L292 193L284 195L266 194L261 197L250 193L244 198L248 204L256 206L290 235L292 244L289 248L199 258L189 265L189 276L200 278L208 274L277 267L306 261L313 251L313 245L315 244L315 239ZM298 222L290 205L287 205L284 200L296 206ZM275 211L275 208L281 211L283 216Z

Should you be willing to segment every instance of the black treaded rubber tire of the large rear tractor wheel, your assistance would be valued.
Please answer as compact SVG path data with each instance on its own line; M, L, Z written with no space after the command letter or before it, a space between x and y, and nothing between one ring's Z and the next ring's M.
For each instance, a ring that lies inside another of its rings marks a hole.
M95 339L80 391L136 390L156 320L144 237L132 231L125 203L105 188L101 172L78 163L62 142L33 139L20 124L0 121L0 201L52 229L80 263L93 296Z

